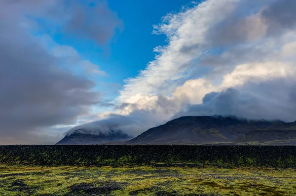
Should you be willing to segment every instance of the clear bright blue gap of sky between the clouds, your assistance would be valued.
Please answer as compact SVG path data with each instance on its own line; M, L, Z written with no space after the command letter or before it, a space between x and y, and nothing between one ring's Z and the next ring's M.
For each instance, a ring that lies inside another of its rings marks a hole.
M123 22L121 32L106 45L99 45L92 40L75 39L69 35L47 31L52 39L61 45L74 47L83 59L100 66L108 76L98 77L97 90L106 92L106 99L115 98L116 90L124 84L124 79L135 77L153 60L153 48L166 44L165 35L153 35L153 25L170 12L178 12L182 6L190 6L190 0L149 0L120 1L109 0L109 8L115 11ZM107 84L107 83L114 83ZM107 86L106 86L107 85ZM116 90L110 93L110 85Z

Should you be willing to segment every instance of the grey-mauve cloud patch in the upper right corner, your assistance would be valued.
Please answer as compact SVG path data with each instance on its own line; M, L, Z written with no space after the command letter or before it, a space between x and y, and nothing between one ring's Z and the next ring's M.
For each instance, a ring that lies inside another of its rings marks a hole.
M275 36L296 27L295 0L242 0L239 3L240 7L247 5L253 6L246 9L247 16L240 17L243 10L238 8L225 21L209 31L207 39L211 45L229 47L237 43L260 40L265 36ZM254 14L257 9L261 11Z

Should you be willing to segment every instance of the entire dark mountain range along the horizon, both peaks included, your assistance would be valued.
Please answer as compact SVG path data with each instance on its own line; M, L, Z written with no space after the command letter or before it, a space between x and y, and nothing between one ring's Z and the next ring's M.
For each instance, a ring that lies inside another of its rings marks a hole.
M96 134L93 134L96 133ZM295 140L295 141L294 141ZM186 116L152 127L132 138L121 130L77 129L57 145L296 144L296 121L235 116Z

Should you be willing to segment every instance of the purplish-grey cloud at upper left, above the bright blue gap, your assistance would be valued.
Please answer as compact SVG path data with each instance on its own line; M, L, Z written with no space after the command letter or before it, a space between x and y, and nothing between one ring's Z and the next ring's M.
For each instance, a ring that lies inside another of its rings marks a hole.
M100 45L123 29L123 21L106 0L5 0L2 4L31 17L38 29Z

